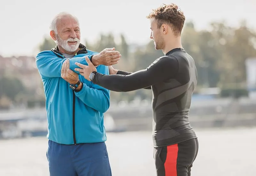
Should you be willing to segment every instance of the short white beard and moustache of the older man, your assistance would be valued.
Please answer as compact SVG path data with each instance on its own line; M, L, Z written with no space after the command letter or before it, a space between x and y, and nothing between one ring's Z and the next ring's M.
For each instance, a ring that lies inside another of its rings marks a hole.
M68 42L76 42L76 45L68 45ZM56 34L56 43L60 45L67 52L75 52L80 44L78 38L68 38L67 40L62 40L58 34Z

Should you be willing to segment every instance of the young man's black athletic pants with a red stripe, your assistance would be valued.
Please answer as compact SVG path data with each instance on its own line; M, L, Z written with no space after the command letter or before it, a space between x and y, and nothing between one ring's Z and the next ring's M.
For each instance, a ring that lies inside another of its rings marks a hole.
M154 148L157 176L190 176L197 152L197 139Z

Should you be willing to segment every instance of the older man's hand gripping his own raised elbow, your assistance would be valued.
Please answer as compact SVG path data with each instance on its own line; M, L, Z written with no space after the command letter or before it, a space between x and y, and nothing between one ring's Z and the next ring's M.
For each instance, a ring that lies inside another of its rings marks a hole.
M65 60L62 64L61 77L69 84L76 84L79 80L78 75L69 69L69 59Z

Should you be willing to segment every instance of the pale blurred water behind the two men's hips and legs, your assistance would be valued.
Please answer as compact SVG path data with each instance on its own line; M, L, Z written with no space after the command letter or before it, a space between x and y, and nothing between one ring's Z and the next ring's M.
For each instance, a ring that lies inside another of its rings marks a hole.
M192 176L255 176L256 128L196 130ZM155 176L151 132L107 133L113 176ZM49 175L47 139L0 140L0 176Z

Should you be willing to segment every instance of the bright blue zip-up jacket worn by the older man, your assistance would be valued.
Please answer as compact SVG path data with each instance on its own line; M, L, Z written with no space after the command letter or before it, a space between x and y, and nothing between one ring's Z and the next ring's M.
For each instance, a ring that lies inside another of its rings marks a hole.
M77 68L75 62L88 65L85 56L91 58L97 54L86 50L82 44L79 48L81 50L70 59L70 69L73 71ZM79 92L72 91L70 84L60 76L65 60L57 46L36 56L46 99L47 138L60 144L106 141L103 113L109 108L110 91L86 80L77 71L83 88ZM104 65L99 65L97 71L109 74L108 67Z

